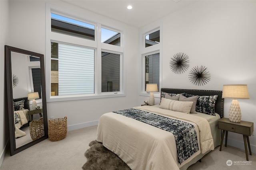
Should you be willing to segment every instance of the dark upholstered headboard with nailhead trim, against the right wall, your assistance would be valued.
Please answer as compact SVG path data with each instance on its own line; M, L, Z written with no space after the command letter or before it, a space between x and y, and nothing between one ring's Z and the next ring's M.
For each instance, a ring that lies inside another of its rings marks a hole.
M187 93L187 94L193 94L198 96L214 96L218 95L218 98L215 103L215 113L218 113L220 115L220 118L223 117L223 106L224 106L224 100L222 98L222 91L218 90L192 90L192 89L175 89L175 88L161 88L161 92L166 93ZM162 93L161 93L162 98Z

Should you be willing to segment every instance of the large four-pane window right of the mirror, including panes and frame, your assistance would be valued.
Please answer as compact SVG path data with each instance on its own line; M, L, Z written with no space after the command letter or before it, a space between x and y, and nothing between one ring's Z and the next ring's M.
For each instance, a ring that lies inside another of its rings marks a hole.
M46 51L51 56L46 57L48 101L124 96L122 32L50 5L47 9L51 13L46 15L50 21Z

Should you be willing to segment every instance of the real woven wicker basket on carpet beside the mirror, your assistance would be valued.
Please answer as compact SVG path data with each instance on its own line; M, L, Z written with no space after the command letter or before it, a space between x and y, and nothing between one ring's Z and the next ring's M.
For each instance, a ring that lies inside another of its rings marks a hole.
M60 141L67 135L67 117L49 120L48 136L50 141Z

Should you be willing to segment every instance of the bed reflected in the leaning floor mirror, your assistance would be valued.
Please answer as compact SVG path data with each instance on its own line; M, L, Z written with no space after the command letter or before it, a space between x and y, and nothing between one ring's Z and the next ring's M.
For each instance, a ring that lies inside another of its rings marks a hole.
M20 128L28 124L29 115L29 102L28 98L17 98L13 100L13 111L14 111L14 125L15 125L15 138L25 136L26 133Z

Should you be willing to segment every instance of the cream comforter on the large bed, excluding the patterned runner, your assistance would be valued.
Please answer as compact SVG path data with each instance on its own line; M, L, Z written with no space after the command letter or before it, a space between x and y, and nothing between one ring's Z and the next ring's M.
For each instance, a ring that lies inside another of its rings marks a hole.
M157 127L117 114L100 117L96 140L117 154L132 170L178 170L200 152L214 150L210 125L204 118L152 106L134 107L194 125L199 151L178 163L174 135Z

